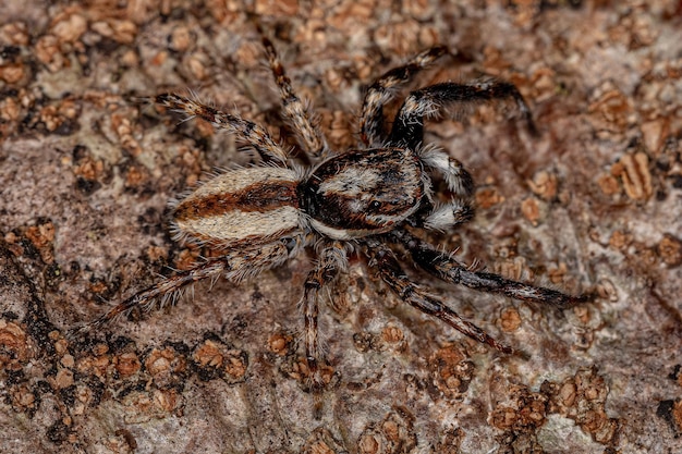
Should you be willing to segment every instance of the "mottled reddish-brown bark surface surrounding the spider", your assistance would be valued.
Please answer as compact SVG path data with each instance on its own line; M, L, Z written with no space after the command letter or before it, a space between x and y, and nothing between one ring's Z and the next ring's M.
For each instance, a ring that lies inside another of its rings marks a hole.
M680 2L246 3L0 2L0 451L682 452ZM144 97L190 88L292 143L247 11L337 149L363 87L433 45L454 56L421 84L516 84L537 137L494 106L427 126L478 183L476 219L429 241L599 299L557 311L411 270L528 355L507 357L355 260L322 310L320 419L301 383L306 256L69 338L195 260L166 201L255 159Z

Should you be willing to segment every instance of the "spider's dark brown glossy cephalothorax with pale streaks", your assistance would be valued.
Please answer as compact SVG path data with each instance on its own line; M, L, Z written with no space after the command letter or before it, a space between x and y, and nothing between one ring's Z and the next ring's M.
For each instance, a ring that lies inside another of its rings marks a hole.
M388 232L424 195L418 157L402 148L351 150L319 164L299 186L310 225L337 240Z

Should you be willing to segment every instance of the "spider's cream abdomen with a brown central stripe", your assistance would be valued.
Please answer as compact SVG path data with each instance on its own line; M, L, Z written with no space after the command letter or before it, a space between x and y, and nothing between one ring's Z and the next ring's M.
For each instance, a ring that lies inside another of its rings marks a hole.
M176 241L216 246L259 245L300 230L293 170L258 167L230 170L172 205Z

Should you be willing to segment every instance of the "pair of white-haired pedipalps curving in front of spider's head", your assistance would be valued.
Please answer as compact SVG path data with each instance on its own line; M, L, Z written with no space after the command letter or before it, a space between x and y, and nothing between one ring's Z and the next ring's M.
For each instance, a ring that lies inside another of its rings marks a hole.
M448 184L450 200L430 206L422 211L419 224L427 229L446 231L468 222L474 217L472 195L474 180L462 163L436 147L422 147L418 150L422 162L439 171Z

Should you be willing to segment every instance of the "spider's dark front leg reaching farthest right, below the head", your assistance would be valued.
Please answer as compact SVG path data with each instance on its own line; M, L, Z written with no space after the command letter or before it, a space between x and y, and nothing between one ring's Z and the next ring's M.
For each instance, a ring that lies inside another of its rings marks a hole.
M515 299L541 303L560 308L572 307L594 299L594 295L567 295L556 290L538 287L523 282L504 279L501 275L472 271L448 254L439 253L404 230L391 232L390 237L402 244L419 268L430 274L454 284L462 284L482 292L499 293Z

